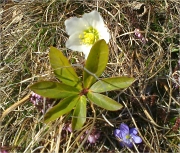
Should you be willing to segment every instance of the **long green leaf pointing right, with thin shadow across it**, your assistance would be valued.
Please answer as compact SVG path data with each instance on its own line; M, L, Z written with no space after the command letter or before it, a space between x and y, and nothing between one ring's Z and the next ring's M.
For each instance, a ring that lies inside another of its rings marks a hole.
M97 81L90 88L93 92L106 92L112 90L118 90L129 87L134 81L134 78L130 77L113 77L105 78Z

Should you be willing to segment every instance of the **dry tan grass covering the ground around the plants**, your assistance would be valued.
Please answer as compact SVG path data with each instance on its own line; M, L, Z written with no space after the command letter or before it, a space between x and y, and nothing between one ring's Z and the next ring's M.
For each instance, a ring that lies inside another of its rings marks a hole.
M11 152L178 152L180 2L144 3L145 9L141 10L134 10L130 0L24 0L1 4L1 114L30 94L28 86L32 83L55 79L48 60L49 46L62 50L73 64L83 62L80 53L65 48L68 36L64 21L94 9L101 13L112 36L103 77L127 75L136 81L126 90L108 93L124 105L121 111L108 112L95 107L94 117L88 107L83 129L71 134L63 131L63 126L69 123L68 116L46 125L43 114L28 98L20 101L1 118L0 148ZM147 43L134 35L135 28L140 29ZM113 135L114 128L102 114L114 127L122 122L137 127L143 143L132 150L120 148ZM101 130L101 139L96 145L83 144L80 137L92 126Z

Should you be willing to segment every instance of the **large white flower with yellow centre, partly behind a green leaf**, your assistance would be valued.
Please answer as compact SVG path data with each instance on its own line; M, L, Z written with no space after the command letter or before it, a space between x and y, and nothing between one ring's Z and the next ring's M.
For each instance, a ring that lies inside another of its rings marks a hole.
M92 45L100 39L109 42L110 34L104 24L103 18L97 11L85 13L82 18L72 17L65 21L66 32L69 39L66 47L83 52L87 59Z

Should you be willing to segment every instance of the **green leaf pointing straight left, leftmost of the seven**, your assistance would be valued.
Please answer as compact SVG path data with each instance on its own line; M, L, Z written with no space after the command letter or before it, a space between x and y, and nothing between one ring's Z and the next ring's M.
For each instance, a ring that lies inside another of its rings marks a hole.
M79 94L79 90L75 87L51 81L37 82L30 89L43 97L57 99Z

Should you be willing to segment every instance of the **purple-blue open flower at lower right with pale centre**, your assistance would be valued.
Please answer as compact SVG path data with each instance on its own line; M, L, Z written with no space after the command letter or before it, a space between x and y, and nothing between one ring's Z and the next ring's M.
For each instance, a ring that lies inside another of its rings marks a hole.
M120 145L122 147L127 146L129 148L133 147L133 143L141 143L142 139L137 136L137 129L136 128L131 128L129 129L129 127L124 124L121 123L119 129L115 129L114 130L114 135L120 139Z

